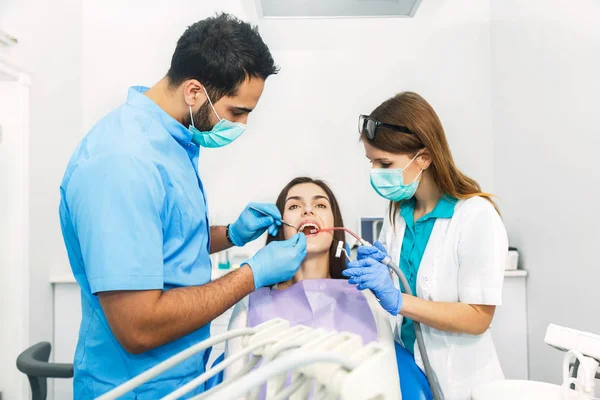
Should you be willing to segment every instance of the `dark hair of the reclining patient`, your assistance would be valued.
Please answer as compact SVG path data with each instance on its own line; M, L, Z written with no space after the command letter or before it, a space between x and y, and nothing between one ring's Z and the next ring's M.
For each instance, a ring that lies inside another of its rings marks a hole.
M321 189L325 191L327 197L329 197L329 203L331 204L331 212L333 213L333 225L334 226L344 226L344 220L342 219L342 213L340 212L340 206L338 205L337 199L333 195L333 192L327 186L325 182L319 179L312 179L308 177L298 177L294 178L288 183L279 196L277 197L277 201L275 204L283 215L285 209L285 200L287 199L288 192L291 188L296 185L300 185L302 183L313 183L319 186ZM285 240L283 236L283 229L279 229L276 236L268 236L267 244L273 241ZM344 232L343 231L334 231L333 232L333 242L331 243L331 248L329 249L329 274L333 279L348 279L344 275L342 275L342 271L346 269L346 259L342 255L340 258L335 257L335 251L337 249L337 245L339 241L346 242Z

